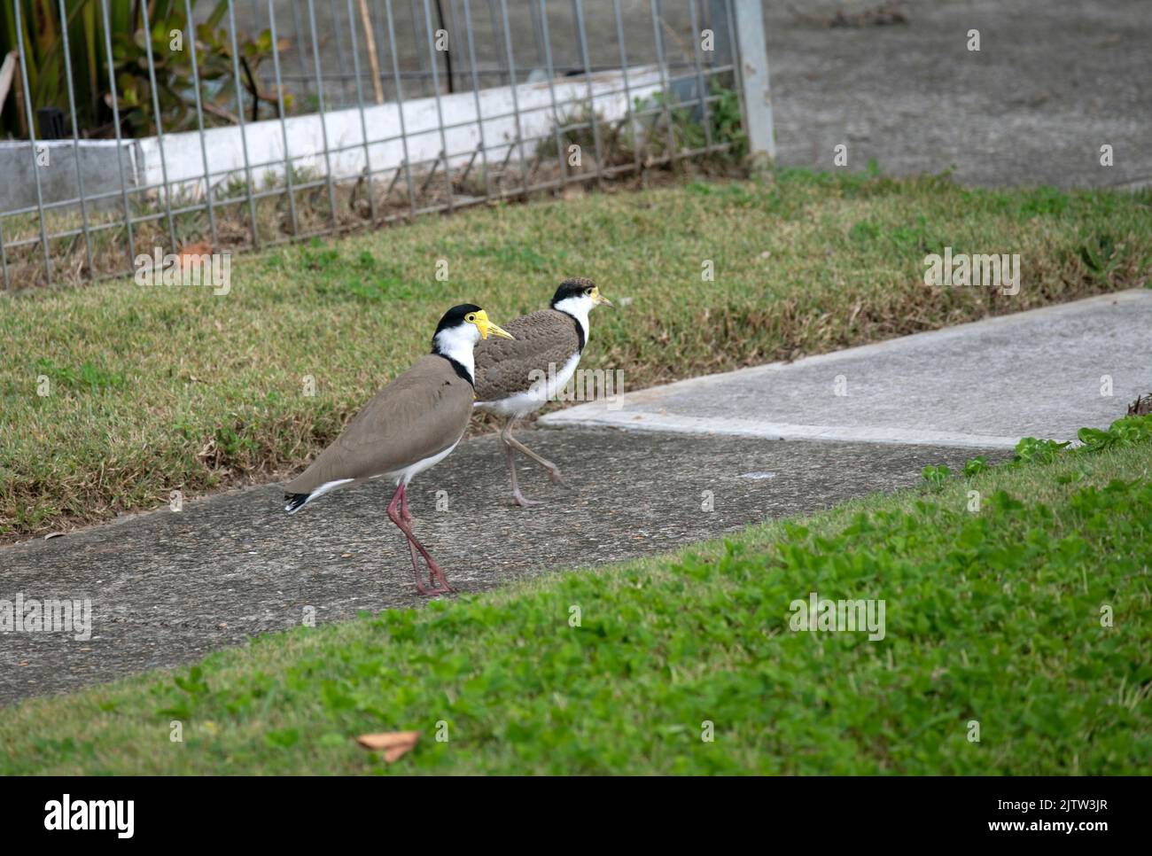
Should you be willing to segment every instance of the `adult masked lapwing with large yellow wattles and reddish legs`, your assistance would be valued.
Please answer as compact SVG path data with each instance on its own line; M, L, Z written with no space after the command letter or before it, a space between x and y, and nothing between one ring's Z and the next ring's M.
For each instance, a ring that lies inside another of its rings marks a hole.
M416 590L452 591L444 570L412 535L406 490L414 476L447 457L468 427L476 397L472 349L490 333L511 339L471 303L445 312L432 336L432 353L378 392L312 465L285 485L285 510L295 514L336 487L386 478L396 485L388 517L408 539ZM429 568L427 586L420 581L417 552Z

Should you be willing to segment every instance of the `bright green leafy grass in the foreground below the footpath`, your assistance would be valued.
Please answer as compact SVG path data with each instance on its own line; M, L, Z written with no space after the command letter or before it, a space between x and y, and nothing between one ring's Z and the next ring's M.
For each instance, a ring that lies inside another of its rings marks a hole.
M29 700L0 712L0 773L1149 773L1152 417L1124 425ZM884 638L794 632L812 591L882 599ZM355 744L394 729L423 735L394 766Z

